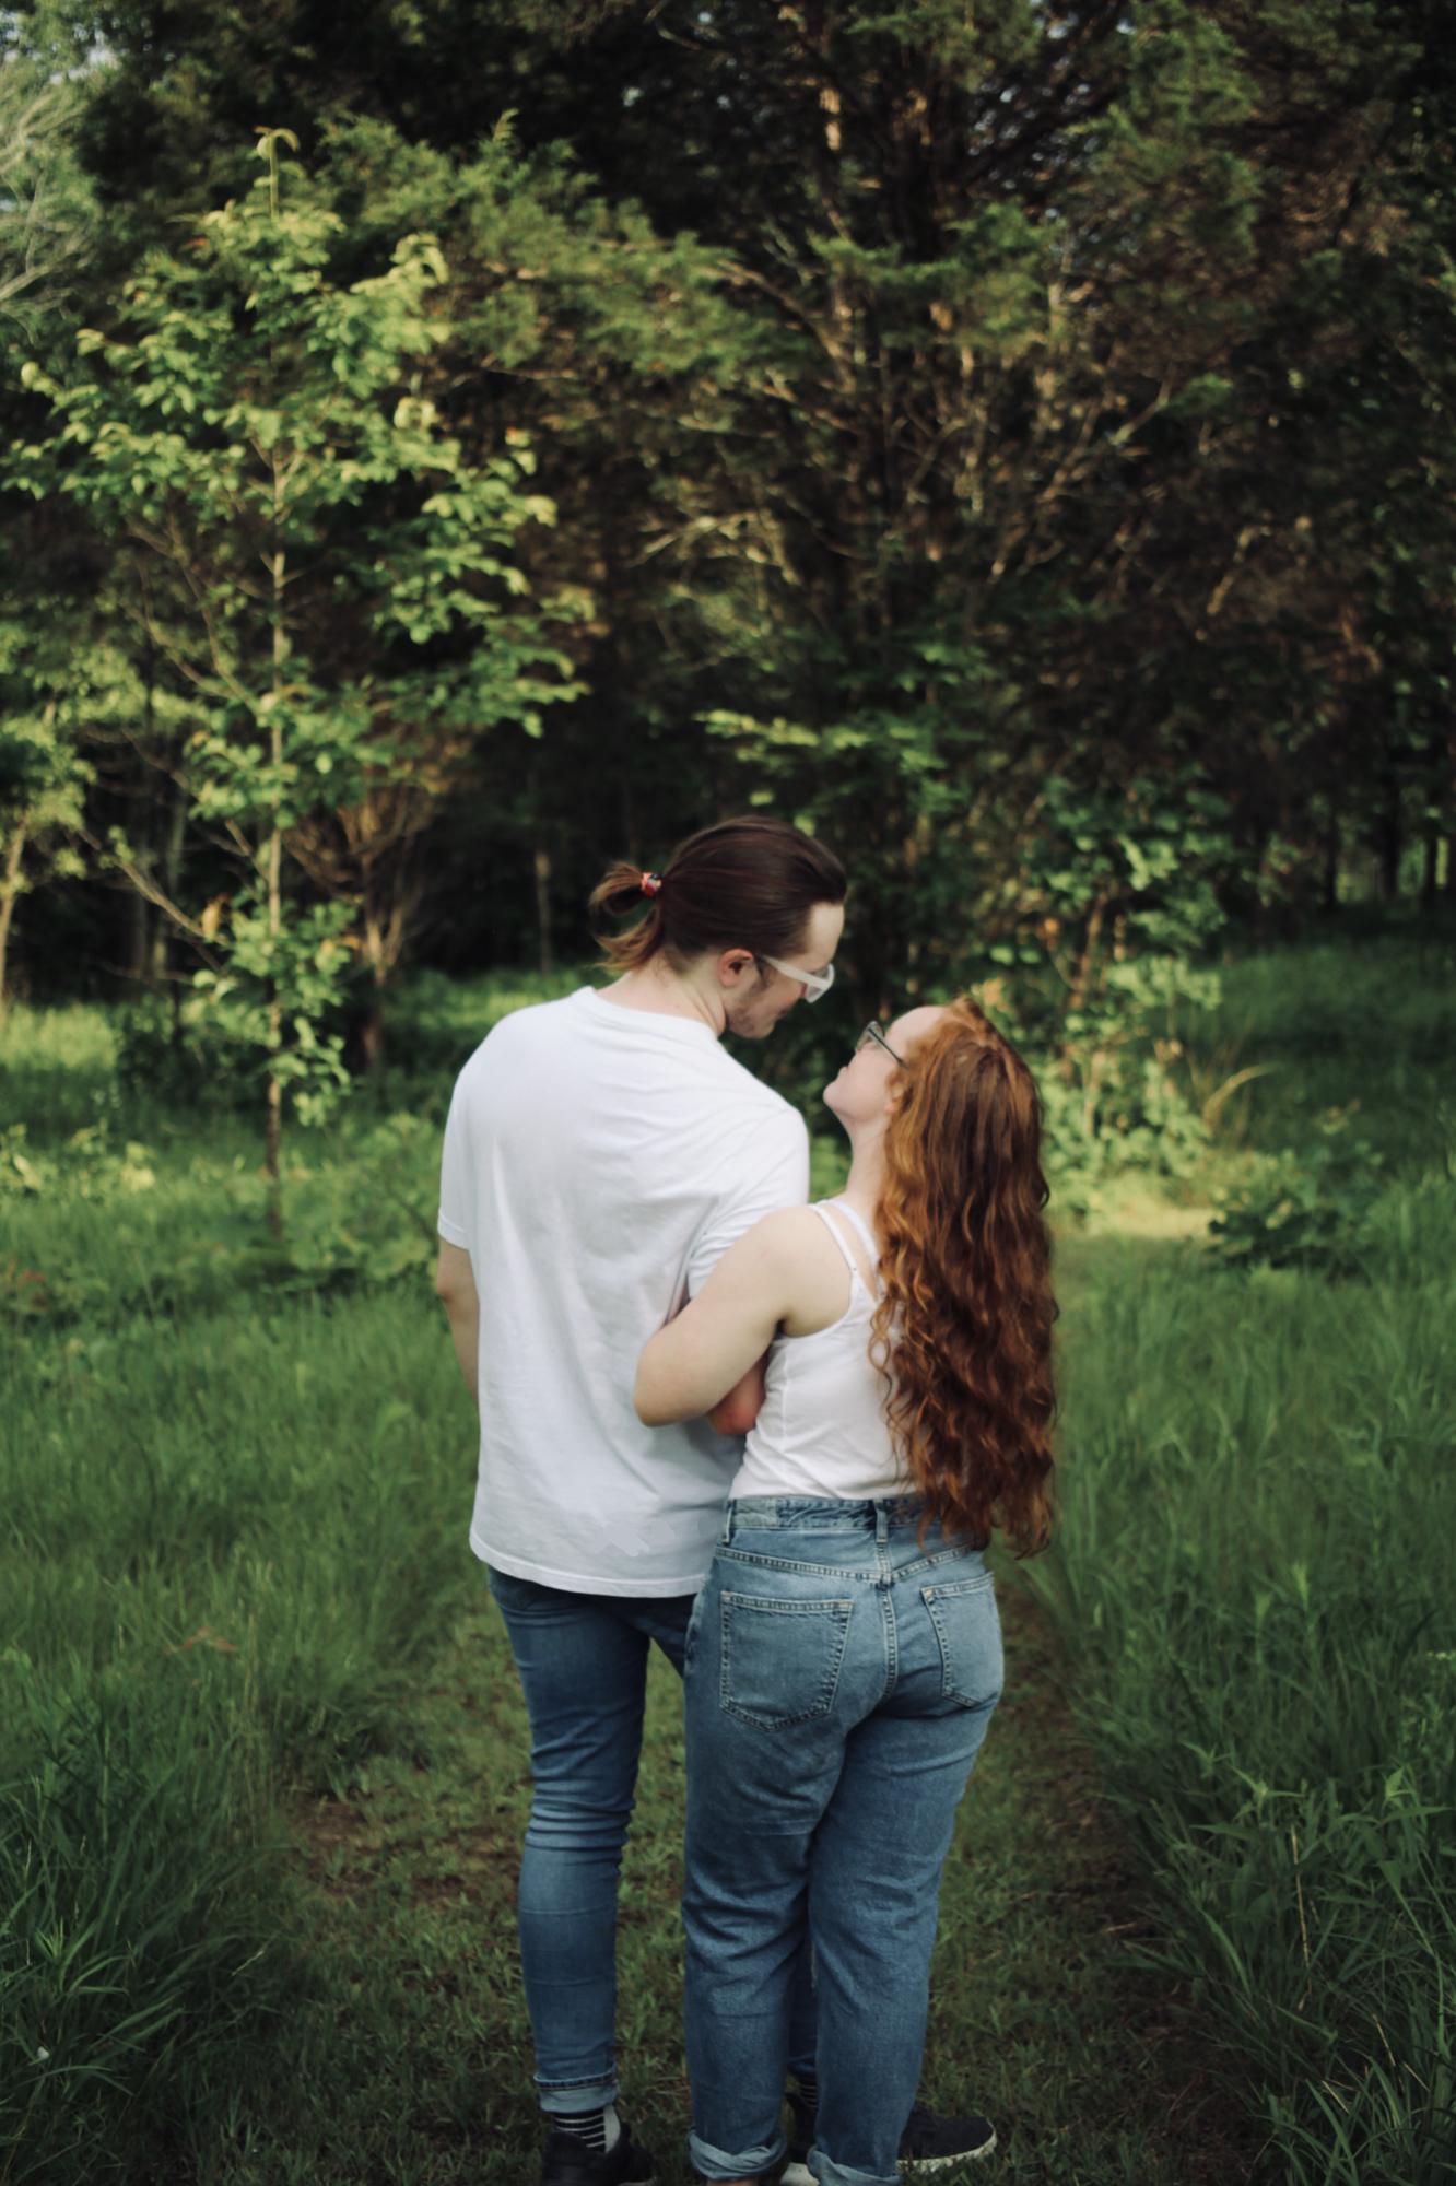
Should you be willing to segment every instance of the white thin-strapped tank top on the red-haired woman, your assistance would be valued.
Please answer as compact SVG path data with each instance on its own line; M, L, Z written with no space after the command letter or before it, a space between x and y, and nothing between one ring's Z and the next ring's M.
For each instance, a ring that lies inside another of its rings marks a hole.
M813 1213L839 1246L850 1274L848 1305L813 1336L774 1338L763 1410L748 1434L732 1495L868 1502L912 1489L885 1423L888 1382L870 1362L874 1296L829 1207L855 1224L870 1266L879 1259L874 1235L853 1207L815 1202Z

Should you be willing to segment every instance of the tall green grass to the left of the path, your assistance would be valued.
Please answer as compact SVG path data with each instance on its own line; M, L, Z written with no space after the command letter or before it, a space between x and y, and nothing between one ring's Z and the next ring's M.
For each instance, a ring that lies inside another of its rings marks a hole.
M0 1419L7 2186L199 2175L284 2096L321 1974L278 1797L415 1747L474 1585L422 1285L105 1312L122 1246L107 1204L70 1215L96 1318L17 1331Z

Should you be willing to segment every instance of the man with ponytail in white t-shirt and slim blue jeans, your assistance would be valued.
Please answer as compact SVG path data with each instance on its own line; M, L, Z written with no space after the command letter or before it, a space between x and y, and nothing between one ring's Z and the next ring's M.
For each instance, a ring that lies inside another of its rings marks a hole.
M617 1878L647 1655L682 1666L752 1397L669 1432L632 1406L636 1355L752 1224L809 1196L802 1117L719 1045L765 1038L833 982L844 870L743 818L590 898L627 920L619 973L503 1019L446 1124L439 1268L481 1414L470 1546L531 1716L520 1959L549 2138L542 2186L634 2186L617 2118ZM791 2061L813 2072L800 1978Z

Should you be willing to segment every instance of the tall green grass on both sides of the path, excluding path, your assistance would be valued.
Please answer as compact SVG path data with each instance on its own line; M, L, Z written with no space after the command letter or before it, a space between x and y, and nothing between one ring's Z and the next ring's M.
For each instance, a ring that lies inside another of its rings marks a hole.
M1028 1578L1159 1889L1148 1954L1220 2026L1281 2186L1456 2177L1439 973L1408 942L1285 951L1233 966L1205 1027L1207 1071L1279 1065L1220 1128L1246 1102L1250 1141L1299 1143L1362 1102L1393 1180L1355 1279L1062 1253L1065 1521ZM402 999L383 1084L289 1139L282 1253L247 1113L120 1082L103 1012L7 1019L0 2186L313 2175L249 2169L345 1981L304 1952L282 1801L424 1758L413 1696L479 1591L474 1423L424 1281L437 1130L453 1067L538 992ZM667 1928L654 1952L673 1959ZM310 2070L317 2096L328 2059ZM676 2088L676 2055L656 2070ZM398 2136L391 2177L411 2118ZM1067 2177L1113 2175L1067 2147Z

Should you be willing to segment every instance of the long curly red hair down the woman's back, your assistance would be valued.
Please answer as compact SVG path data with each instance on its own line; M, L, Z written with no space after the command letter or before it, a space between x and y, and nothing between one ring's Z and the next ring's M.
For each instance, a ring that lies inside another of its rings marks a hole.
M1019 1556L1052 1539L1052 1242L1025 1062L960 997L899 1076L872 1355L929 1521Z

